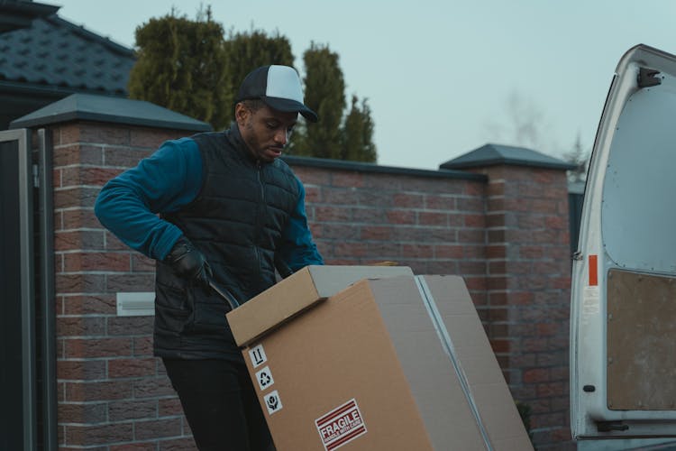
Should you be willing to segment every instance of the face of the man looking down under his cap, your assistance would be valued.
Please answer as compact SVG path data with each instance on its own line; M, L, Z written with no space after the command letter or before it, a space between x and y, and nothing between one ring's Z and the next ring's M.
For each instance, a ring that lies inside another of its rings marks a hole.
M269 106L251 111L242 103L235 106L234 114L244 143L257 160L264 162L282 154L298 118L296 112L282 113Z

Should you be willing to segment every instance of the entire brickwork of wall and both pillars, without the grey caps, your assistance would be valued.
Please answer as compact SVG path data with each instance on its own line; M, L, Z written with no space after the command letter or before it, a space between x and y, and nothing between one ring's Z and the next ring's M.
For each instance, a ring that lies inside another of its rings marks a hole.
M159 360L152 318L117 317L115 293L151 291L154 265L97 222L105 181L185 132L96 123L52 127L59 446L193 449ZM394 261L464 277L540 449L568 432L565 174L516 166L475 173L290 158L327 263Z

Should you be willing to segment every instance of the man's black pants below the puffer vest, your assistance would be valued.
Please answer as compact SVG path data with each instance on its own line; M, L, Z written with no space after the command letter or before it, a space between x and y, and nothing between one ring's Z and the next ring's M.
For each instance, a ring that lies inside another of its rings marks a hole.
M163 362L200 451L275 449L243 362Z

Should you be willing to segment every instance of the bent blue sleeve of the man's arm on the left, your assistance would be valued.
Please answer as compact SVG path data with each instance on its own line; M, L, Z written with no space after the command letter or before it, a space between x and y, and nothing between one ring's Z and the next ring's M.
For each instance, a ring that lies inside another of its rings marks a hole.
M202 157L195 141L168 141L135 168L108 181L94 211L124 244L162 260L183 233L158 214L192 202L202 181Z

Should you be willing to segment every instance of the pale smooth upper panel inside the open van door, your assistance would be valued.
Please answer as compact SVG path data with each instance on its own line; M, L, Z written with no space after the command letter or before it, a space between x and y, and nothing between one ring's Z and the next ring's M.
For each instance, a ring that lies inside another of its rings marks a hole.
M663 77L630 97L617 124L601 224L618 266L676 273L676 88Z

